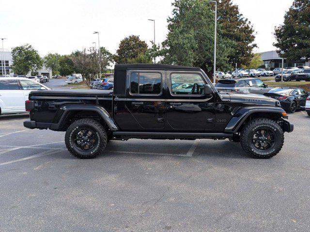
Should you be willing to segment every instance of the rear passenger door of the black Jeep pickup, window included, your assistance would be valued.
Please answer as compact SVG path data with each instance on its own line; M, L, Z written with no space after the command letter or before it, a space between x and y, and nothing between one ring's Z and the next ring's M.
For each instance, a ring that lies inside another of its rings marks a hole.
M163 129L165 127L165 72L129 70L127 72L126 109L134 117L135 130ZM132 125L134 126L134 125Z

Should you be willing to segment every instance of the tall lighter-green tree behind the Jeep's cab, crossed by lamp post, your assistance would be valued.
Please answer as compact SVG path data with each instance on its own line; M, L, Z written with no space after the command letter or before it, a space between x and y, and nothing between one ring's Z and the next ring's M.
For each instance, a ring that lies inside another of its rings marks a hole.
M214 13L207 0L175 0L168 18L168 35L158 56L161 63L196 66L211 75L214 53ZM229 70L233 41L222 37L218 27L217 68ZM211 75L212 76L212 75Z

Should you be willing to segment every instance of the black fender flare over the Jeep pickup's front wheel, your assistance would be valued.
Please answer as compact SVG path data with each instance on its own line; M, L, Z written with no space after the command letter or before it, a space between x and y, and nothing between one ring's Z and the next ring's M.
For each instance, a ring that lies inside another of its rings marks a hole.
M275 114L279 117L287 118L287 116L282 115L282 113L285 113L285 111L280 107L270 107L270 106L241 107L233 113L233 117L226 125L224 132L236 133L239 130L239 128L242 126L242 123L254 113Z

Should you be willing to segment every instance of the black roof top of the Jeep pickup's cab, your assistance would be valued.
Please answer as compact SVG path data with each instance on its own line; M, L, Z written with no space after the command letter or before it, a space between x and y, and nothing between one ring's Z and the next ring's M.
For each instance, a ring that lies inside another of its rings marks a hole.
M200 68L170 65L170 64L116 64L114 70L127 70L127 69L152 69L152 70L195 70L199 71Z

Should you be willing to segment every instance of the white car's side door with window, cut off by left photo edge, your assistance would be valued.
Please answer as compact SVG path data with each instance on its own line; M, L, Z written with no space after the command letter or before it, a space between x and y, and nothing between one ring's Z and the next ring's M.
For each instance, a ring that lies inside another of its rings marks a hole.
M25 111L25 98L17 79L0 80L1 113L18 113Z

